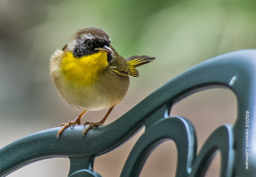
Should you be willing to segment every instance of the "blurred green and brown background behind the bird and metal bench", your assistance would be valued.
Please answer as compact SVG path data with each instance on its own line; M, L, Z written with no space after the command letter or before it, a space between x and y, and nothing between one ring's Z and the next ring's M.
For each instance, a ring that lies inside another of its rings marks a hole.
M108 32L111 45L125 58L156 57L139 67L140 79L131 79L129 92L111 113L109 124L189 67L222 53L255 48L255 5L249 0L1 0L0 148L79 113L58 95L48 69L51 53L77 29L99 27ZM87 113L83 120L100 120L105 112ZM172 114L195 124L200 147L218 125L234 122L236 97L224 89L203 91L180 101ZM95 170L118 176L139 134L97 158ZM152 153L141 176L174 176L176 158L174 143L164 143ZM10 176L67 176L68 163L44 160ZM207 176L217 176L219 166L217 155Z

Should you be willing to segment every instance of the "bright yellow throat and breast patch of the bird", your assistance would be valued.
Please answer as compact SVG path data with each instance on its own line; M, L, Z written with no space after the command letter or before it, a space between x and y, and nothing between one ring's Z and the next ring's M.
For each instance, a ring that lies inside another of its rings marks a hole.
M61 71L67 80L77 85L90 85L99 78L100 73L107 66L106 52L97 52L79 58L67 52L61 62Z

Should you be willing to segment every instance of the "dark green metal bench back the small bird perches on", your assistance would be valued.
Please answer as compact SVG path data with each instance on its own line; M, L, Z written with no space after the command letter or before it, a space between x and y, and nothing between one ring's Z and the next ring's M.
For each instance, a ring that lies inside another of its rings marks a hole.
M237 97L234 125L221 125L196 154L196 134L189 120L170 117L173 103L209 87L225 87ZM88 131L83 125L68 128L56 139L60 127L36 132L0 150L0 176L22 166L54 157L70 159L68 176L100 176L93 160L122 145L145 126L131 150L120 176L139 176L152 150L172 139L177 147L176 176L204 176L216 151L221 155L221 176L255 176L256 50L227 53L192 67L153 92L109 125ZM254 129L253 129L254 127ZM104 174L103 174L104 176Z

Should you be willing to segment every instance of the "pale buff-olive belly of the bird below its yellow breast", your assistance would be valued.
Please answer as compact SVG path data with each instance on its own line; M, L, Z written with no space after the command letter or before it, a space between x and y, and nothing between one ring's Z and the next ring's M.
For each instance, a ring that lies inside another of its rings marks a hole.
M114 80L102 77L104 80L95 81L92 85L77 85L72 81L59 81L60 95L69 104L84 110L101 110L120 103L129 87L128 76L118 76Z

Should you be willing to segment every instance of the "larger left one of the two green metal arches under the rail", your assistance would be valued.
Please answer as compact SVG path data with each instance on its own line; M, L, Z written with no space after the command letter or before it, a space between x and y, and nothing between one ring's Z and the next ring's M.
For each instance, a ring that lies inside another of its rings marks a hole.
M158 132L157 132L158 131ZM121 176L139 176L150 152L164 141L172 139L177 146L178 176L185 176L196 152L195 131L190 122L181 117L162 118L138 139L125 163Z

